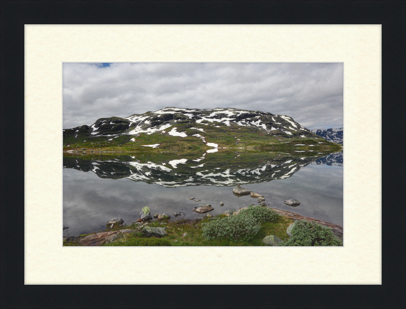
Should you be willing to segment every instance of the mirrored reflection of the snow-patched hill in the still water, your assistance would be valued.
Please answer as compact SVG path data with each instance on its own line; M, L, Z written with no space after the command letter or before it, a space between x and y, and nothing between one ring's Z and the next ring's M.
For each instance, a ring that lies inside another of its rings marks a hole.
M336 155L336 156L332 156ZM257 161L253 161L257 159ZM133 181L154 183L165 187L191 185L235 186L244 183L261 183L275 179L291 177L310 163L328 164L337 162L342 165L341 157L336 153L324 158L292 156L278 153L260 158L252 155L228 154L221 160L180 159L153 162L140 161L133 156L122 156L120 159L86 160L78 157L63 157L63 168L83 172L92 171L100 178L128 178ZM204 160L203 163L200 161ZM316 161L315 161L316 160ZM334 161L335 160L335 161ZM196 162L197 161L197 162Z

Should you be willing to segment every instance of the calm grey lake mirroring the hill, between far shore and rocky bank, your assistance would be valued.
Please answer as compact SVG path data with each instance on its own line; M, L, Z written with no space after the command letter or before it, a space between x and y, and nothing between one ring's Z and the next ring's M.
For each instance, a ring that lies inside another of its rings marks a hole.
M211 204L210 214L217 215L257 205L257 199L232 194L238 183L263 195L268 207L343 226L343 152L325 157L301 153L219 156L208 153L205 158L151 161L131 156L63 157L63 226L69 226L63 236L105 229L107 221L116 217L129 224L140 218L144 206L151 215L164 212L178 220L205 215L192 212L194 206ZM289 199L300 205L285 205L283 201ZM176 218L173 213L178 211L186 215Z

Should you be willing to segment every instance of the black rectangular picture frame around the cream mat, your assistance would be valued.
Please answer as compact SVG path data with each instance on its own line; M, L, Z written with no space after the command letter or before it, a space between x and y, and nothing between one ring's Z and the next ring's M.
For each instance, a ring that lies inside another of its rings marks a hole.
M405 307L405 4L1 2L1 307ZM382 285L24 285L24 24L382 24Z

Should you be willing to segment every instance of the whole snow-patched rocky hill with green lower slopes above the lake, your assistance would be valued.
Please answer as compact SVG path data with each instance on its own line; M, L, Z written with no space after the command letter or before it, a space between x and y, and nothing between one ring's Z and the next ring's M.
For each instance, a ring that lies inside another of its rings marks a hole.
M185 147L217 149L238 143L309 139L320 137L287 115L236 108L167 107L127 118L101 118L91 126L63 130L64 147L85 146L83 143L96 147L103 143L104 146L165 148L168 142L176 141L179 146L179 142L187 140Z

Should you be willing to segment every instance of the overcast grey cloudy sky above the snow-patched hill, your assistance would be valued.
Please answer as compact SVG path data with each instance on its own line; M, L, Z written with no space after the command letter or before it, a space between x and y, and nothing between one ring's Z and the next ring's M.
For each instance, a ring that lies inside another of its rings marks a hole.
M63 128L165 107L234 107L343 127L343 63L64 63Z

